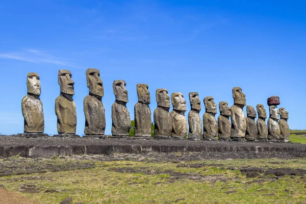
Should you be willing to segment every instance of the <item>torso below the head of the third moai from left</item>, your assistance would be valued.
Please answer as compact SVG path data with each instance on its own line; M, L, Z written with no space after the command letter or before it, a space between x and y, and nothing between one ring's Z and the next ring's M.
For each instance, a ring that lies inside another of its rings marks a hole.
M93 95L84 98L85 135L104 135L105 109L100 99Z

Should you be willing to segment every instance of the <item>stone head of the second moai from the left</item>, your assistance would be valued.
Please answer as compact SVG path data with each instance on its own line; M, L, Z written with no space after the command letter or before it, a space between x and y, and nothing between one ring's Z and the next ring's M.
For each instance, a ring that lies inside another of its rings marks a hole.
M61 69L59 70L58 78L61 92L69 95L74 95L74 82L71 79L71 72L69 70Z

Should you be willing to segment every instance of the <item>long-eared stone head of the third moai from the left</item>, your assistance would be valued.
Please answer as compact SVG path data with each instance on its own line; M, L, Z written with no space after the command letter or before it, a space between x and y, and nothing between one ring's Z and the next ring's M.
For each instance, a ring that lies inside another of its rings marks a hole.
M100 78L100 71L98 69L93 69L93 68L87 69L86 81L90 93L100 97L104 96L103 83Z

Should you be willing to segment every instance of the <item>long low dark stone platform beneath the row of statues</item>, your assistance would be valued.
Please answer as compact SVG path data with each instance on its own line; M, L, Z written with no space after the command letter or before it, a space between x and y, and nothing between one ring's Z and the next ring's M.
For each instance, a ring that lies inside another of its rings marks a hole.
M137 138L22 138L0 136L0 157L52 157L66 155L169 154L197 152L202 159L306 157L306 144L165 140Z

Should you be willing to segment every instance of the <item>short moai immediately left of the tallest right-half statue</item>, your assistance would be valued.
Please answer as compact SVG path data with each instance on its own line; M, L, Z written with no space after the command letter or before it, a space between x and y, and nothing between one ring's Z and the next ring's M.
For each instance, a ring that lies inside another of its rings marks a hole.
M231 109L228 107L226 101L219 103L220 115L218 117L218 136L219 140L229 140L231 138Z

